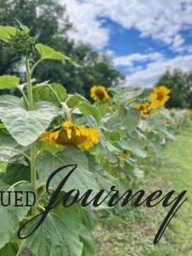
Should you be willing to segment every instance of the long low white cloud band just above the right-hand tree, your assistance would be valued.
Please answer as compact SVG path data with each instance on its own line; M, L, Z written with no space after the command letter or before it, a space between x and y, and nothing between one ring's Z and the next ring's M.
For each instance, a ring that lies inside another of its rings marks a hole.
M172 59L150 62L146 68L127 76L124 86L150 87L167 69L182 68L183 71L192 69L192 55L180 55Z

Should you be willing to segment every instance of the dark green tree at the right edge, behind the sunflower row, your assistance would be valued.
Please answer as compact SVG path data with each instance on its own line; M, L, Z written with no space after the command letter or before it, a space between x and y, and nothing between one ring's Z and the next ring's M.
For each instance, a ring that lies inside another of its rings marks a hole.
M166 102L167 108L191 108L192 74L183 73L179 69L164 73L155 86L165 85L171 90L170 99ZM189 93L190 92L190 93Z

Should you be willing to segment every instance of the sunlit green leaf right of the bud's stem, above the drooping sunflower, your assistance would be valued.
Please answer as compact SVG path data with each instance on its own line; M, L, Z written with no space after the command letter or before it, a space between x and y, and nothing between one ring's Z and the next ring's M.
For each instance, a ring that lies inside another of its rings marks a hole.
M55 93L51 89L54 90ZM44 84L33 87L33 98L35 102L53 102L60 106L55 94L61 102L64 102L67 98L67 91L62 84Z

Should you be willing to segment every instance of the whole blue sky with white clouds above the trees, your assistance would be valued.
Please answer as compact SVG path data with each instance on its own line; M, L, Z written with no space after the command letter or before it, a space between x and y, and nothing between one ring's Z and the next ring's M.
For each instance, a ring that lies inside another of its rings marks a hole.
M192 0L60 0L77 43L107 51L125 86L152 86L167 68L192 70Z

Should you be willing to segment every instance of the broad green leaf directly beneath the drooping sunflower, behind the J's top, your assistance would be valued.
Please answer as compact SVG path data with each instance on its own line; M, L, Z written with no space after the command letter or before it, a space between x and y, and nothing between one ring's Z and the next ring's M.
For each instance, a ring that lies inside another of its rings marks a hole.
M38 154L36 167L40 182L46 182L49 175L57 168L75 164L78 165L78 167L71 177L68 178L67 183L62 190L68 191L70 189L79 189L81 195L84 194L87 189L94 189L95 192L98 192L99 186L96 177L93 173L89 172L88 160L85 157L84 152L79 148L70 145L57 154L51 154L49 151L42 151ZM70 170L71 169L67 168L57 173L51 186L55 189Z

